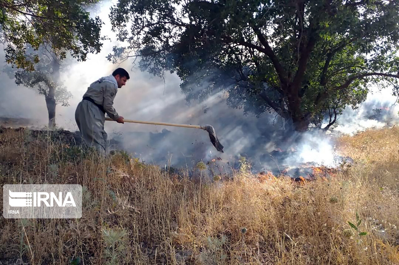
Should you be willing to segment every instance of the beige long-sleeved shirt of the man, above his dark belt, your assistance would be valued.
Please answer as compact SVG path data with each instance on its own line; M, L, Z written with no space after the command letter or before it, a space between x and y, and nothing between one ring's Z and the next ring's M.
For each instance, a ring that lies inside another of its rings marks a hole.
M117 95L118 88L111 82L101 82L97 80L87 88L83 97L91 97L95 103L102 105L108 116L116 121L119 118L117 111L114 109L114 98Z

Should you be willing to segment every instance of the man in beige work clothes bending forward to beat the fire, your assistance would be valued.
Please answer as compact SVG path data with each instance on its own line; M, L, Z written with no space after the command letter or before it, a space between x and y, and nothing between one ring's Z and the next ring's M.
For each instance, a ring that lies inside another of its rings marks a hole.
M75 111L75 121L88 146L94 146L101 154L108 152L107 133L104 131L105 113L118 123L123 117L115 111L113 104L118 88L126 84L129 74L118 68L89 86Z

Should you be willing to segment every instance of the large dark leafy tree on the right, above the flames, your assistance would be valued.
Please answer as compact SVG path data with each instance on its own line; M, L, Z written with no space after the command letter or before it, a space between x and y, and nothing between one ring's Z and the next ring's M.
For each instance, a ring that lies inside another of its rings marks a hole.
M123 0L110 19L127 44L109 60L142 57L142 70L176 72L188 100L227 90L229 105L296 131L328 113L330 127L399 78L396 0Z

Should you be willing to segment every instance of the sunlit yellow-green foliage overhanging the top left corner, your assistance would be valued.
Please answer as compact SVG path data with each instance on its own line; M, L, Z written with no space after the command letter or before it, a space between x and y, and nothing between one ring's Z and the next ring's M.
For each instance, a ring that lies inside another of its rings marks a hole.
M40 46L63 60L69 51L77 60L99 53L102 21L85 7L98 0L0 0L0 25L6 62L28 71L39 61ZM27 54L32 47L33 52Z

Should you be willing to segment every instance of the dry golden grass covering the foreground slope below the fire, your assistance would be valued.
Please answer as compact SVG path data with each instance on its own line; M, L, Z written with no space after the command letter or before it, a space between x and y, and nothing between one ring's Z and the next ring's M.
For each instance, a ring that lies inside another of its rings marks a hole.
M260 182L237 173L232 180L200 183L123 153L101 159L44 134L3 131L2 185L68 183L86 191L78 220L2 218L0 260L399 264L398 137L393 129L342 138L340 150L358 163L332 179ZM348 225L356 223L356 212L365 236Z

